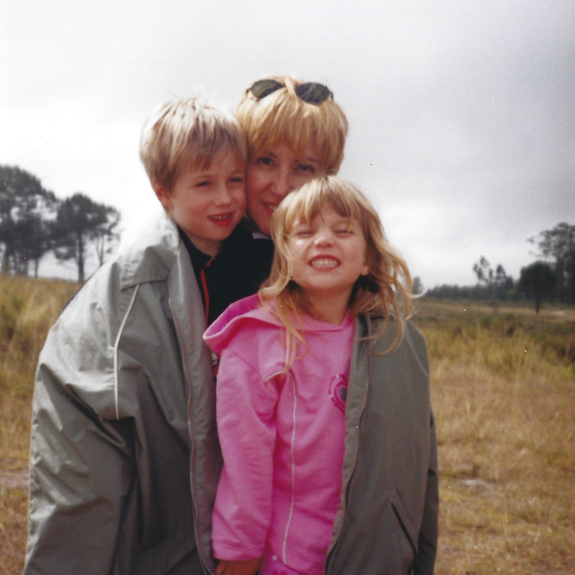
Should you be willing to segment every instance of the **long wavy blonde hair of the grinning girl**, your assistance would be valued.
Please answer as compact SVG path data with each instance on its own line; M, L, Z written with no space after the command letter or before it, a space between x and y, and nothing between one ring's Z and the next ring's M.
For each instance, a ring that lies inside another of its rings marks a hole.
M321 210L329 207L340 216L361 227L366 243L367 275L355 282L348 309L352 317L359 314L383 316L381 335L390 319L396 324L396 337L388 350L401 341L409 317L412 291L411 275L404 260L389 245L381 220L370 201L351 183L333 176L313 179L288 194L271 217L271 237L275 252L269 279L259 290L262 305L275 298L274 313L286 328L286 358L295 357L294 339L304 342L301 310L305 296L292 278L293 257L288 240L293 228L305 221L310 224ZM271 309L271 308L270 308ZM298 327L294 324L297 319ZM286 368L287 369L287 368Z

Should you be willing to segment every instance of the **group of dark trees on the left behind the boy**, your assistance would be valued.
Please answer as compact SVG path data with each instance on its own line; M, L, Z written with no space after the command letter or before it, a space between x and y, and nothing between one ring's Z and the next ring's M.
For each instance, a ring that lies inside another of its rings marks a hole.
M49 252L72 261L85 281L86 259L99 264L117 241L120 212L80 192L60 200L40 180L17 166L0 165L0 271L38 275Z

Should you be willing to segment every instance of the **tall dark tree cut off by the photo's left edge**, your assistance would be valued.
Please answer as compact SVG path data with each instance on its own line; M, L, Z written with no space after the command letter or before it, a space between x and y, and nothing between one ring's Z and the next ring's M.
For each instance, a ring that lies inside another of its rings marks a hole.
M0 166L1 269L38 274L40 259L50 249L50 225L57 200L36 176L17 166Z

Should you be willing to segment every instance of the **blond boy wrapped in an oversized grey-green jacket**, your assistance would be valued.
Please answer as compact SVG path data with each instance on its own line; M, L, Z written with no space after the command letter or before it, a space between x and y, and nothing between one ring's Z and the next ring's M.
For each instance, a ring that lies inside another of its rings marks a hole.
M232 117L166 104L140 157L169 217L90 278L40 355L27 575L214 570L221 455L202 333L255 293L271 249L236 227L247 151Z

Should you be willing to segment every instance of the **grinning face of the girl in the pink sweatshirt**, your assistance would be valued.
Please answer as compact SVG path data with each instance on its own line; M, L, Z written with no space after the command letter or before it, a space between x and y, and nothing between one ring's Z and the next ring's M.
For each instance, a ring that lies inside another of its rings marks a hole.
M366 242L356 221L324 208L308 225L297 224L287 238L292 279L306 296L341 296L348 301L360 275L369 273Z

